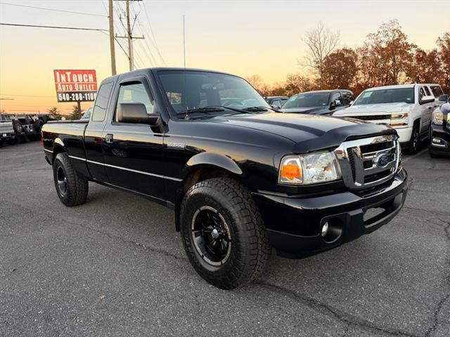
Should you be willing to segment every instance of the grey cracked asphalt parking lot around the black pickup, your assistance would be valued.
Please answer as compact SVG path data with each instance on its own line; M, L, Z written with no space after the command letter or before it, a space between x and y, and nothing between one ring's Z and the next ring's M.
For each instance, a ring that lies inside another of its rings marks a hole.
M169 209L93 183L63 206L39 142L0 161L0 336L450 335L450 159L404 156L391 223L318 256L272 253L236 291L197 275Z

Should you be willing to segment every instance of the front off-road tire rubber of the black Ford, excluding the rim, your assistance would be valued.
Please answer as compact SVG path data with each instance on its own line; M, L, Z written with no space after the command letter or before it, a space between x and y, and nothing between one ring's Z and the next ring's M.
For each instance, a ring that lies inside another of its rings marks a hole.
M216 209L230 230L231 252L219 266L207 263L193 243L193 217L203 206ZM231 178L204 180L186 192L180 209L180 230L194 269L221 289L234 289L256 279L264 270L271 251L255 201L243 185Z

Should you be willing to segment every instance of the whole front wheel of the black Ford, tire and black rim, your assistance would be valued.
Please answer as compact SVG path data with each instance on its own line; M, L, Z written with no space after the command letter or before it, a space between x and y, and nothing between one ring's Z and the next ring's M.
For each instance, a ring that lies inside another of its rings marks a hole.
M269 240L250 192L236 180L213 178L191 187L180 210L189 261L207 282L234 289L252 282L269 257Z

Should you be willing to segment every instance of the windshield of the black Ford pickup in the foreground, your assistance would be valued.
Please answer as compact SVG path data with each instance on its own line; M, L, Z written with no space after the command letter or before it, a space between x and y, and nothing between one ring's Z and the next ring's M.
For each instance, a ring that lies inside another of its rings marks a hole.
M240 77L214 72L167 70L158 72L175 112L202 107L267 107L264 98Z

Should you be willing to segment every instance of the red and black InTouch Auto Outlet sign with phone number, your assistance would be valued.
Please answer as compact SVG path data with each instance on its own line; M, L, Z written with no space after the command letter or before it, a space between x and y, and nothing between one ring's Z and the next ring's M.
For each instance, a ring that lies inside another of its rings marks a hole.
M94 102L97 95L95 70L53 70L58 102Z

